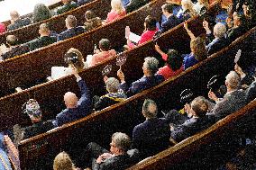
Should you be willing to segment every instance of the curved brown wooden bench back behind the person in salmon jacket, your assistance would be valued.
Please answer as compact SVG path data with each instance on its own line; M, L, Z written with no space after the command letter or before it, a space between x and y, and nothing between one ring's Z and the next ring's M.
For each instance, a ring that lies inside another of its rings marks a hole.
M131 31L141 34L145 17L151 12L153 15L160 14L160 5L163 3L163 0L154 0L147 6L133 13L128 13L117 21L105 24L69 40L59 41L48 47L1 62L1 93L3 95L10 94L13 92L12 89L17 86L34 85L37 81L45 80L47 76L50 76L51 67L65 66L63 56L69 48L79 49L86 57L88 54L93 54L94 44L97 44L102 38L110 40L112 48L120 47L121 44L125 43L125 26L130 25ZM100 7L99 4L96 6ZM151 10L149 10L150 7ZM138 27L138 25L141 26Z

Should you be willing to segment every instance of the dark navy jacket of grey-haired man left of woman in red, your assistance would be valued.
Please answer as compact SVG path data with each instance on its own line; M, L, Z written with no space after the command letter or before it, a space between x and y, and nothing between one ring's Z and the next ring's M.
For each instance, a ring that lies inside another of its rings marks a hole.
M133 82L130 87L126 83L123 83L120 88L125 92L127 97L130 97L142 92L143 90L151 88L152 86L159 85L163 81L164 77L161 75L142 76L141 79Z

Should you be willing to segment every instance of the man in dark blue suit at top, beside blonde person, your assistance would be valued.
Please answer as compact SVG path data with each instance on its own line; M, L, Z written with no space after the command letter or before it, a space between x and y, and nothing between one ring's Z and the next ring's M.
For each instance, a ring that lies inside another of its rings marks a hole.
M177 16L175 16L173 14L173 5L172 4L163 4L161 6L161 9L162 9L162 13L166 16L167 21L161 23L160 31L157 31L156 34L160 34L165 31L169 31L169 29L177 26L180 23Z

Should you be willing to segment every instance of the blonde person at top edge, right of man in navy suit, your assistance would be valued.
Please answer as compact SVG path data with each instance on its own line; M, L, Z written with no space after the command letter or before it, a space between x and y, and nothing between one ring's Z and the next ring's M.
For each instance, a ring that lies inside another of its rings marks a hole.
M191 17L197 15L197 12L193 8L194 4L191 0L181 0L181 9L177 13L178 20L184 22Z

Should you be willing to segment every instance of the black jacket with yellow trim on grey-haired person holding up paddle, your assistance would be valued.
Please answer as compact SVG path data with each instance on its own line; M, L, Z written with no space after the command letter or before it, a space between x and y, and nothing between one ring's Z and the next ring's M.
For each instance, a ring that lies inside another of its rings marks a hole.
M125 99L126 95L124 93L105 94L101 96L99 101L95 104L95 110L102 110L115 103L123 102Z

